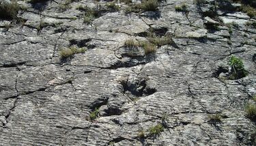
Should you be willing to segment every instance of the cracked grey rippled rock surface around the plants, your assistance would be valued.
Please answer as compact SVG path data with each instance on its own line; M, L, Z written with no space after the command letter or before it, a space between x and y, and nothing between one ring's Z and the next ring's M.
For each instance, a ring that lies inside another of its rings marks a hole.
M212 12L210 0L167 0L141 14L125 14L122 3L85 24L76 7L95 1L74 1L66 11L61 0L18 3L27 7L18 14L23 25L0 20L0 145L253 145L256 126L244 106L256 94L256 29L244 25L253 20L246 14ZM175 12L182 3L188 12ZM230 33L212 14L238 26ZM173 43L128 56L124 42L146 40L150 28ZM69 46L87 50L61 59ZM223 81L231 55L248 76ZM100 117L91 121L95 108ZM221 122L212 123L216 114ZM157 123L164 131L149 136Z

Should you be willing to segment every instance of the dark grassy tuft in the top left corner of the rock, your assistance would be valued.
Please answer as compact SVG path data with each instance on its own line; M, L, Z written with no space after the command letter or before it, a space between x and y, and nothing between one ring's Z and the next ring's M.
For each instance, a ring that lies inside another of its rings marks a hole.
M20 7L16 1L0 1L0 18L16 19Z

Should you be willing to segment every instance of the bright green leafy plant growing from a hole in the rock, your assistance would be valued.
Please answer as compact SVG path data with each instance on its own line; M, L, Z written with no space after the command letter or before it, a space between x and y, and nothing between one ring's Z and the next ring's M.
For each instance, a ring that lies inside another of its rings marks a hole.
M231 75L229 76L229 79L236 80L238 78L243 78L248 74L248 72L244 69L244 63L242 62L242 59L231 56L229 59L229 65L231 65Z

